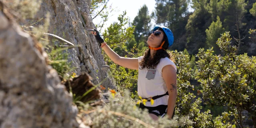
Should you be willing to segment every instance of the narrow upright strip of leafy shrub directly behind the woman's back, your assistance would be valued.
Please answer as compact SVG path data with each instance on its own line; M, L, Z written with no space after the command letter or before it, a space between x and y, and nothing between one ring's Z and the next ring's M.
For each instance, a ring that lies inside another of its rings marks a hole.
M177 51L171 52L171 54L174 55L177 67L178 96L176 99L175 115L190 115L193 119L194 112L200 112L199 104L196 103L200 103L201 100L198 99L193 103L196 96L190 93L194 89L194 86L189 82L192 76L191 68L188 64L189 56Z

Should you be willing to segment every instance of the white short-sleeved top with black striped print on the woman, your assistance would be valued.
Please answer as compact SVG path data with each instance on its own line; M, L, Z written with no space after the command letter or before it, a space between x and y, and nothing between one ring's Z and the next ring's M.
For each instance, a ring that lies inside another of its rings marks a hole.
M138 62L142 60L143 56L138 58ZM169 58L162 58L156 69L148 69L139 66L138 73L138 95L142 98L150 98L157 95L162 95L167 92L167 87L162 76L162 68L166 65L174 65L177 72L176 65ZM158 105L168 105L169 96L162 96L154 100L154 104L146 102L146 106L155 107Z

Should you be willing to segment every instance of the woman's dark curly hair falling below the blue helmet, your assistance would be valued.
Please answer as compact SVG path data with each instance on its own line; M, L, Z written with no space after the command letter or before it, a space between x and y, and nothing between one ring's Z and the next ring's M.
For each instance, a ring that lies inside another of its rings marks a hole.
M159 28L159 30L164 32L161 28ZM143 56L143 59L139 62L139 65L141 66L140 69L143 69L143 68L155 69L158 63L160 62L161 58L168 57L170 60L173 61L172 55L166 52L166 49L168 49L168 39L165 33L164 33L164 38L162 42L163 41L165 41L164 45L162 46L162 48L164 49L157 50L153 54L153 58L150 57L150 49L146 50Z

